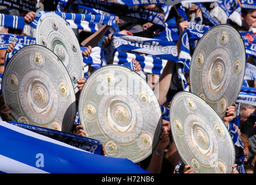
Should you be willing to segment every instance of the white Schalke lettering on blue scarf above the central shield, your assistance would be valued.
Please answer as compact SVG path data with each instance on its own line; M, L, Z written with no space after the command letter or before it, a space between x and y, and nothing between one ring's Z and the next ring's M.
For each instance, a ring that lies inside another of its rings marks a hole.
M161 46L157 40L154 40L152 43L143 42L140 38L136 40L129 40L127 36L112 36L111 47L117 48L121 45L130 45L135 47L140 47L141 49L149 50L149 54L152 54L152 51L157 51L156 54L172 54L172 56L178 56L176 51L176 46Z

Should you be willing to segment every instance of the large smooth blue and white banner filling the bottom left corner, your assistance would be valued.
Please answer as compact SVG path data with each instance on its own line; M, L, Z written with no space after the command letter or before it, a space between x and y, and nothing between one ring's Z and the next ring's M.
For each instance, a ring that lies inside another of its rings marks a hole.
M148 173L126 158L92 154L4 121L0 149L4 173Z

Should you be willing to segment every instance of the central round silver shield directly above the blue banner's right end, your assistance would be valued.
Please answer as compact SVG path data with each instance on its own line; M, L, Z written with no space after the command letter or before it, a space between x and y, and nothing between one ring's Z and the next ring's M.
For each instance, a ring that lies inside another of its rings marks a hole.
M158 143L158 100L145 80L127 67L106 65L93 72L82 88L78 112L86 135L104 144L106 156L139 162Z

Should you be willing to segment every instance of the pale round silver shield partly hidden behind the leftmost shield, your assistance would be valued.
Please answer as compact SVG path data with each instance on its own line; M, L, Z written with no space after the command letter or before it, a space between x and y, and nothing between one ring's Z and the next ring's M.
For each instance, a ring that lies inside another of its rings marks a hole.
M37 24L36 42L51 49L66 66L75 93L77 80L84 77L82 53L70 25L55 13L43 14Z

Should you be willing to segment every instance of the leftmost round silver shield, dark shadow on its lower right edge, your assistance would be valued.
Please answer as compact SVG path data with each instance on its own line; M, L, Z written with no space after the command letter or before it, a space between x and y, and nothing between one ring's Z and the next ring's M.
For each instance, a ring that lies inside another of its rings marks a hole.
M13 121L64 132L74 125L70 76L56 54L44 46L26 46L13 55L3 73L2 94Z

